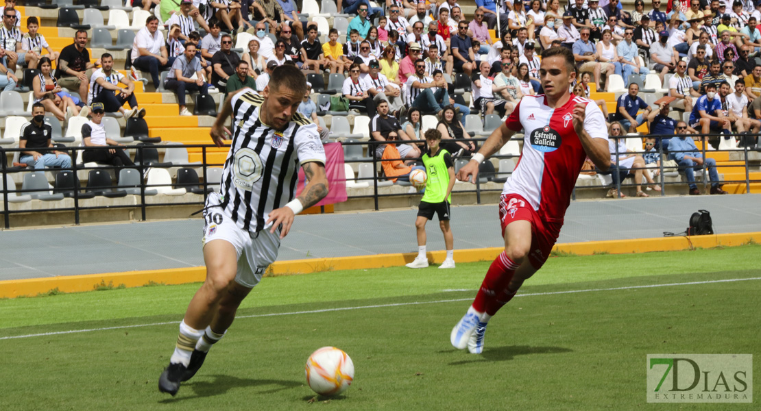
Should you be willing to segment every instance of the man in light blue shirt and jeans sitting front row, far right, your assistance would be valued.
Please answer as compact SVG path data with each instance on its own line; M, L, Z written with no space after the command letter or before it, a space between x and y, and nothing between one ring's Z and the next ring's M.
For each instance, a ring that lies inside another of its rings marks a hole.
M682 128L684 127L684 128ZM708 176L711 179L711 194L727 194L719 185L718 172L716 172L716 160L703 159L703 154L698 150L695 141L686 131L686 125L679 122L677 125L678 138L672 138L668 144L669 159L679 163L679 168L684 170L684 176L689 184L689 195L700 195L698 186L695 184L695 170L708 168Z

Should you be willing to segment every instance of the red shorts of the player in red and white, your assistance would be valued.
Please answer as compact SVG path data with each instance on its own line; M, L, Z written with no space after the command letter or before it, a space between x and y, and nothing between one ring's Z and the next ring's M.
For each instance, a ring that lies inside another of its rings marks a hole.
M562 223L551 223L543 219L520 194L502 194L499 201L502 238L505 238L505 227L518 220L531 223L531 248L528 260L534 268L539 270L549 258L552 246L560 235Z

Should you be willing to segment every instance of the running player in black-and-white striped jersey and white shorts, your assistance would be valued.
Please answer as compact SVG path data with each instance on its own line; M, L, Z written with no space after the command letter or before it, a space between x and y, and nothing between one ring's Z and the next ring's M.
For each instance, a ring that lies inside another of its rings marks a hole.
M206 280L180 323L174 354L158 381L161 392L174 396L180 382L196 374L240 302L277 258L295 215L328 193L317 125L297 112L306 92L301 70L279 66L261 96L249 88L229 96L212 126L212 140L221 147L232 115L220 191L209 194L203 210ZM307 185L294 198L298 166Z

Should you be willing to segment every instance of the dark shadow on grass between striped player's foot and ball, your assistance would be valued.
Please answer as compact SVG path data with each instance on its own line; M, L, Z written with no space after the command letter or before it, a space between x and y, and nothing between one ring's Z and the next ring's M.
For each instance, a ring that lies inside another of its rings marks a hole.
M269 390L260 391L261 394L272 394L282 390L288 390L294 387L301 387L304 385L299 381L288 380L256 380L253 378L237 378L230 375L210 375L213 378L212 381L192 381L182 384L180 386L180 393L188 392L192 390L191 396L180 396L174 398L167 398L159 401L160 403L176 403L177 401L190 400L193 398L205 398L214 397L215 395L227 394L231 388L239 387L260 387L266 385L272 385Z

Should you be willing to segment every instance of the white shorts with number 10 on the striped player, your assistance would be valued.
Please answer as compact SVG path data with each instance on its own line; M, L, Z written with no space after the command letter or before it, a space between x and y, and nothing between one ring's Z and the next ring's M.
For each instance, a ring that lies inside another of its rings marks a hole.
M219 194L211 193L206 207L219 204ZM221 207L205 210L203 225L203 244L213 240L224 240L237 251L237 273L235 282L241 286L253 288L262 280L269 264L278 258L280 232L270 233L263 229L254 234L241 229Z

